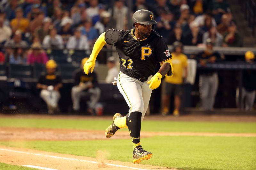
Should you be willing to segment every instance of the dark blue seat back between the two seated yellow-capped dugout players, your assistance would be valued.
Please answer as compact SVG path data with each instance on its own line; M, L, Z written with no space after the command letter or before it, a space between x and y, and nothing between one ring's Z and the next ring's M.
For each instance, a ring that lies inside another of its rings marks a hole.
M73 79L75 70L80 67L80 64L59 64L60 75L62 79Z

